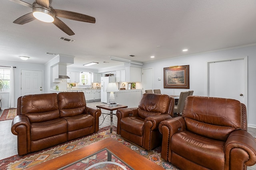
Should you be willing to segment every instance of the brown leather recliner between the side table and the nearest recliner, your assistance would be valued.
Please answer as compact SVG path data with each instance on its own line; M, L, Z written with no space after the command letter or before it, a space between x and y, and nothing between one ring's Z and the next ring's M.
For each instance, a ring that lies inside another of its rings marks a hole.
M159 123L170 119L173 112L174 98L166 94L145 93L138 107L116 111L117 134L146 150L151 150L162 142Z

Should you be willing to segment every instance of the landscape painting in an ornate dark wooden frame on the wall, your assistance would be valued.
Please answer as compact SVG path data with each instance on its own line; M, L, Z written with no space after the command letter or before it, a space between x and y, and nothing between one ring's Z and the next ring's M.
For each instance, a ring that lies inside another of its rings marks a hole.
M165 67L164 88L189 88L189 65Z

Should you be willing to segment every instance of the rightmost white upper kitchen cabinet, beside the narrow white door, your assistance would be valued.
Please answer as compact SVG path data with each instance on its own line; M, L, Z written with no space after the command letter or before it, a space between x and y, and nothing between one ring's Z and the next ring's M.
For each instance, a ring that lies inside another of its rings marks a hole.
M125 67L126 82L141 82L141 68Z

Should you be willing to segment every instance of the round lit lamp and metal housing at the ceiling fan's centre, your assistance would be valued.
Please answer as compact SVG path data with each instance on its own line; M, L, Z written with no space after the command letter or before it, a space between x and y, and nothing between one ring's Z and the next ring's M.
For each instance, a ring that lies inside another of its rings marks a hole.
M40 6L36 3L33 3L33 16L43 22L53 22L55 15L51 12L52 8L49 6L49 10Z

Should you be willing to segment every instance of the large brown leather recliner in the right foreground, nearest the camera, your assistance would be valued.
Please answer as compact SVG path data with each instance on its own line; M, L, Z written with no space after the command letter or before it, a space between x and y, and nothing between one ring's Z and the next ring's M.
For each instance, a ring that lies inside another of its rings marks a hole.
M188 96L182 117L159 125L161 157L181 169L245 170L256 163L246 119L237 100Z

